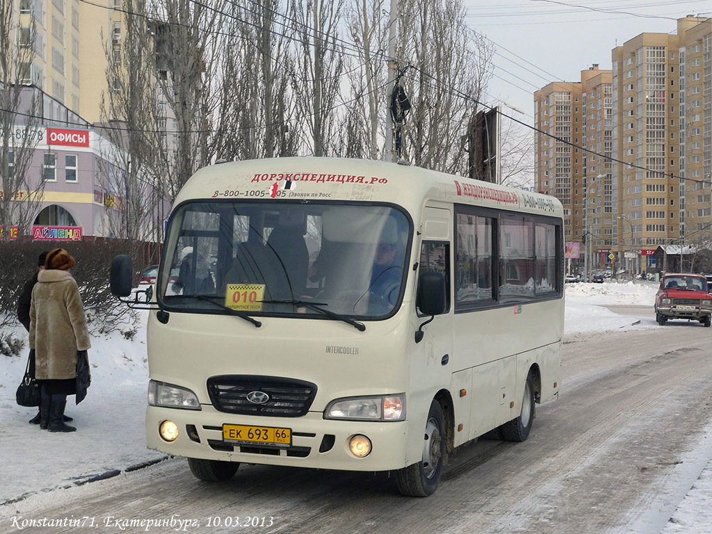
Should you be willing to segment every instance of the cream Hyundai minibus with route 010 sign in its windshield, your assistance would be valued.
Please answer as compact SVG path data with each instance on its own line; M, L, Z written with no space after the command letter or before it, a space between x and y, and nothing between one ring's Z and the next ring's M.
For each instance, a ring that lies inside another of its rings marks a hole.
M557 396L562 206L371 160L215 164L179 193L150 296L151 449L197 478L241 462L393 471L524 441ZM130 260L112 290L130 293Z

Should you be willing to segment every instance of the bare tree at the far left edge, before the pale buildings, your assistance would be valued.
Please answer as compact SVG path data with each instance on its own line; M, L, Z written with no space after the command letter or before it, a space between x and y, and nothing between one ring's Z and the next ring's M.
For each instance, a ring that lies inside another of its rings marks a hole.
M43 135L38 127L41 92L30 85L32 59L41 43L34 22L19 26L18 4L0 0L0 239L10 239L13 226L19 236L27 231L45 184L30 173Z

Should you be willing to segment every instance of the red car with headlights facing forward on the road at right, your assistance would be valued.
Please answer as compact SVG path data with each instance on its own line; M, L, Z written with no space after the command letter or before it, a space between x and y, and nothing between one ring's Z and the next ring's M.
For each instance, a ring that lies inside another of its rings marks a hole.
M664 325L668 319L696 320L712 324L712 295L704 276L666 274L655 295L655 320Z

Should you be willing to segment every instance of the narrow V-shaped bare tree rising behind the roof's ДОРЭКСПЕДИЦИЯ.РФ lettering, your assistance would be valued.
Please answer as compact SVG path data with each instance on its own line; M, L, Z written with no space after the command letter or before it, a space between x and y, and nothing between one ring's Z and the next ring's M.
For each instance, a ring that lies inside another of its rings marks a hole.
M330 155L335 145L343 56L338 27L342 0L293 0L291 19L298 36L293 91L304 141L315 156Z

